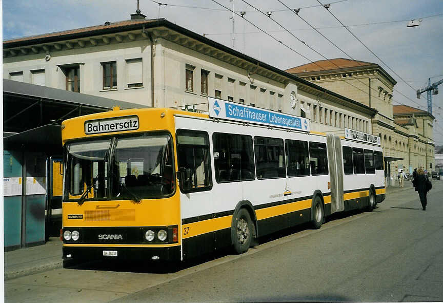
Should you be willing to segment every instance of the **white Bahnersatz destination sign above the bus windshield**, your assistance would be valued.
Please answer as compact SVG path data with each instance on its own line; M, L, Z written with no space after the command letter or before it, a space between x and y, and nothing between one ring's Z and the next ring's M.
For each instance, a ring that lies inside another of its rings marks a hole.
M138 129L138 117L126 116L101 120L85 121L85 134L102 134L103 132L125 131Z

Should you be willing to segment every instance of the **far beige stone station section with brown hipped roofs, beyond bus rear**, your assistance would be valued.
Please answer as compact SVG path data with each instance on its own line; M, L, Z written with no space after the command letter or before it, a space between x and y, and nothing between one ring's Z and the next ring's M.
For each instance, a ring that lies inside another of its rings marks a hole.
M393 105L397 82L379 65L339 58L286 71L377 110L372 133L381 138L385 157L400 158L388 162L388 184L400 168L410 173L418 167L434 170L434 117L417 108Z

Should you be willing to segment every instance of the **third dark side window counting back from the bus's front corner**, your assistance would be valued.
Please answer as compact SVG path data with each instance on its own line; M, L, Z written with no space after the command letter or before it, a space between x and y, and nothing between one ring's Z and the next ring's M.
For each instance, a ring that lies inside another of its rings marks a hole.
M283 139L254 137L257 179L285 178L285 150Z

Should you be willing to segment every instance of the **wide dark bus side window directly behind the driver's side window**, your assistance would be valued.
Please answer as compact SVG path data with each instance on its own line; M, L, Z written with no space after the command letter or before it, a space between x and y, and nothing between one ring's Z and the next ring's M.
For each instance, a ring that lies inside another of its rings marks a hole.
M218 183L255 179L252 137L214 132L214 170Z

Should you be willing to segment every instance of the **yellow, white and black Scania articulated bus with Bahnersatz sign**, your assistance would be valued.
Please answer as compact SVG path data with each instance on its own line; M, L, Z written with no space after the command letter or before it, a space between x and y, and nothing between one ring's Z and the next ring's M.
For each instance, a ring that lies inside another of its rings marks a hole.
M378 137L310 131L306 118L208 98L69 119L63 259L180 261L385 199ZM366 142L365 142L366 141Z

